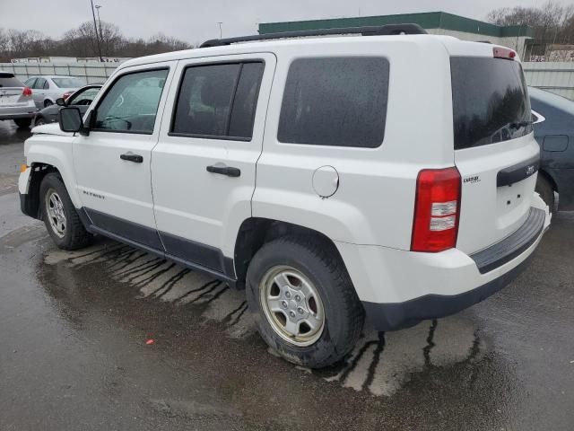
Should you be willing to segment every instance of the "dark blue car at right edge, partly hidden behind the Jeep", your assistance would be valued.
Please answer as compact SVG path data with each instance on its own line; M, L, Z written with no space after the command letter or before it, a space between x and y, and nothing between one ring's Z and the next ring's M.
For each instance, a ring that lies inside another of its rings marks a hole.
M551 210L554 192L559 210L574 210L574 101L533 87L528 92L541 156L536 191Z

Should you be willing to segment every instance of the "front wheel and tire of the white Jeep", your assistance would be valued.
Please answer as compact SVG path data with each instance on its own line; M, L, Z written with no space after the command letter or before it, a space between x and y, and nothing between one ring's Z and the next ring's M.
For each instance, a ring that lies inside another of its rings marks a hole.
M62 250L78 250L91 242L80 216L56 172L48 173L39 186L41 215L48 233Z

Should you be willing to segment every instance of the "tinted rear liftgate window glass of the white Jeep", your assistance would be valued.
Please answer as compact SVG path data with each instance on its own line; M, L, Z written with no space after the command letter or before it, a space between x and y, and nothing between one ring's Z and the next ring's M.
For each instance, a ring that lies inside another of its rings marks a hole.
M530 101L517 61L451 57L455 149L508 141L532 132Z

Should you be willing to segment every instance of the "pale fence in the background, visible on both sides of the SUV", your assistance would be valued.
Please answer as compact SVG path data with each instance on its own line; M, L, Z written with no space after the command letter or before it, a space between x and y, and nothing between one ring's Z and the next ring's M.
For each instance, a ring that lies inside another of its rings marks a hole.
M32 75L70 75L84 78L88 84L101 84L117 66L106 63L0 63L0 70L12 72L22 81ZM523 66L528 85L574 101L574 62L525 62Z

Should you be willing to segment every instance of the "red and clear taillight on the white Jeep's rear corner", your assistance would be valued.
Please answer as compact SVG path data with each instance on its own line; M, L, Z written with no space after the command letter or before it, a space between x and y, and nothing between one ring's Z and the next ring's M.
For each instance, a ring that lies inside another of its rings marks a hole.
M457 245L460 182L455 167L419 172L411 251L438 252Z

